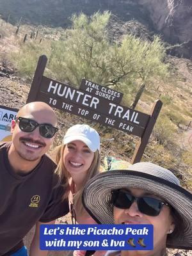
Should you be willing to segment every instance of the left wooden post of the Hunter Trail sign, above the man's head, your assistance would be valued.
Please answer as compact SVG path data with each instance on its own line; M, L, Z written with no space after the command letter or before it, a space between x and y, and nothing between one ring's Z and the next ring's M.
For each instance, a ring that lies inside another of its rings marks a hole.
M33 102L36 100L38 91L40 89L42 77L44 76L44 70L45 70L46 64L47 64L47 56L45 55L40 56L38 59L38 63L36 65L35 74L33 77L31 89L29 91L28 99L26 103Z

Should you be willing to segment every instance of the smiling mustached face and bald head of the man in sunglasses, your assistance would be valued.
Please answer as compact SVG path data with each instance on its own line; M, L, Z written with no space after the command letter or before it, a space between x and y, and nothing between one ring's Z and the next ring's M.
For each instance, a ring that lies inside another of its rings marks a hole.
M18 117L30 118L38 124L52 124L56 126L57 120L54 111L43 102L32 102L20 109ZM40 159L49 149L54 138L44 138L40 135L39 127L32 132L23 132L19 128L19 121L12 122L12 141L15 155L26 161ZM12 150L12 151L13 151Z

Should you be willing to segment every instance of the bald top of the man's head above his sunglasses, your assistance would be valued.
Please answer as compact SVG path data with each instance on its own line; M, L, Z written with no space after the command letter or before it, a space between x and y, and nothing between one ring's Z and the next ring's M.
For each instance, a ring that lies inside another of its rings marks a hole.
M26 118L36 118L36 116L40 116L39 118L42 118L42 122L39 120L40 123L47 122L53 126L57 124L57 117L54 110L45 102L36 101L26 104L20 108L17 113L17 117L19 116Z

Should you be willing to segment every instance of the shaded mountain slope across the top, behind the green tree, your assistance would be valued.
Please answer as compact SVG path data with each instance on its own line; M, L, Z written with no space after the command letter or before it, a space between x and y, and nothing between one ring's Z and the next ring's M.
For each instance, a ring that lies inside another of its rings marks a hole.
M192 40L191 0L0 0L0 15L12 24L22 17L23 24L66 27L72 13L98 10L109 10L124 22L141 22L172 44Z

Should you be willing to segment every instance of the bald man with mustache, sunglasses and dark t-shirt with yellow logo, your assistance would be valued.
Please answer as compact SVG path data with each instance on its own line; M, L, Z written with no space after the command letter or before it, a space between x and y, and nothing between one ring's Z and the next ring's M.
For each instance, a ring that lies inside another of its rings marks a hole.
M47 255L39 248L40 224L52 224L68 213L56 166L45 155L56 125L49 105L31 102L12 121L12 143L0 145L0 256L27 255L22 239L35 224L29 255Z

